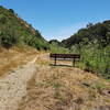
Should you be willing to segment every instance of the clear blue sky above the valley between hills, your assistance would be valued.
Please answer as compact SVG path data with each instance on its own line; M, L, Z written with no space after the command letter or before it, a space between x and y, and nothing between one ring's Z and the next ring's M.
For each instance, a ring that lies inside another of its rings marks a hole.
M110 0L0 0L40 30L46 40L63 40L88 23L110 19Z

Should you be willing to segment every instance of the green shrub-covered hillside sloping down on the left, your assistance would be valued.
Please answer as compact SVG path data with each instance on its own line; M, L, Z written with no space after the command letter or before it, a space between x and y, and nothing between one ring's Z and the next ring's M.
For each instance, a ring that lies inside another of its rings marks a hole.
M23 21L12 9L0 7L0 46L30 45L47 50L47 42L31 24Z

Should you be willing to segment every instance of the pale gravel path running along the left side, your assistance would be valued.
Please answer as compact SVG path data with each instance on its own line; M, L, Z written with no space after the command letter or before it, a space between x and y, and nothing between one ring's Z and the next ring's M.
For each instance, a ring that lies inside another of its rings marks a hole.
M0 110L18 109L18 103L26 95L26 84L36 70L36 59L0 78Z

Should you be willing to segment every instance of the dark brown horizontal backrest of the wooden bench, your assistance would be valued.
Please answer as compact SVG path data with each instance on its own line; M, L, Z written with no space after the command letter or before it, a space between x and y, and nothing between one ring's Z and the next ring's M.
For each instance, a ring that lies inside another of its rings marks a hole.
M52 58L80 58L79 54L50 54Z

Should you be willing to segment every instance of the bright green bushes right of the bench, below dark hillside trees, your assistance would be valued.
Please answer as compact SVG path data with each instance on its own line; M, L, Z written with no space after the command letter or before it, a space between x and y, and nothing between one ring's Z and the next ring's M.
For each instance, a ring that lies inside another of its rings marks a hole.
M101 74L110 78L110 46L98 50L96 45L85 45L80 50L74 47L73 53L81 55L78 66L87 72Z

